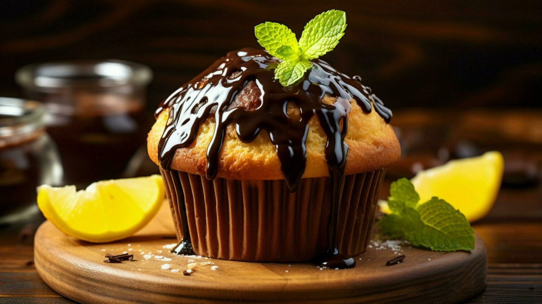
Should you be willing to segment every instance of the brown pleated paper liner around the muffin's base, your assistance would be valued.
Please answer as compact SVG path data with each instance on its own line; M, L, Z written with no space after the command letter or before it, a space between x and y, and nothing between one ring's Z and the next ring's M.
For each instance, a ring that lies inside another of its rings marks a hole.
M301 179L296 192L283 180L212 181L161 170L177 238L188 224L197 255L247 262L303 262L327 246L332 198L329 178ZM347 175L339 206L337 247L365 251L385 169ZM186 221L182 208L186 208Z

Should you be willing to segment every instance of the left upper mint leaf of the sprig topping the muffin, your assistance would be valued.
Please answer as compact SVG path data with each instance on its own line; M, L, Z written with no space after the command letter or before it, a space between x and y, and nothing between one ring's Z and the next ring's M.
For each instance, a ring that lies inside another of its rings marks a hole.
M295 34L287 26L266 22L254 27L254 34L258 42L267 52L279 59L299 58L301 48Z

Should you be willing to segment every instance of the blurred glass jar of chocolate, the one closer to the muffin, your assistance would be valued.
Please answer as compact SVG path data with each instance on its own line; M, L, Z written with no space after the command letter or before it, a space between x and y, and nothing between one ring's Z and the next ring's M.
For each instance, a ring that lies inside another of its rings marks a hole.
M118 60L52 62L17 71L26 96L46 106L65 183L84 187L130 175L130 161L145 150L152 123L145 112L151 77L148 67Z

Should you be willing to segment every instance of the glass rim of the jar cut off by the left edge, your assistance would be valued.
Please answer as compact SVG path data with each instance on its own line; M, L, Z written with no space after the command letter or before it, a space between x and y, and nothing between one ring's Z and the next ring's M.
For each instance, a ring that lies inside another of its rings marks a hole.
M0 97L0 146L43 130L44 106L34 100Z

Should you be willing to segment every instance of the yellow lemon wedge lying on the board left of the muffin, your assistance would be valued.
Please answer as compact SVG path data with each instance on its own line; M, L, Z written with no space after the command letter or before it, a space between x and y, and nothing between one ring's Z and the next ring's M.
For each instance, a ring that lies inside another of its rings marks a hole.
M75 186L38 187L37 205L58 229L93 243L132 236L156 215L164 201L160 175L94 182Z

